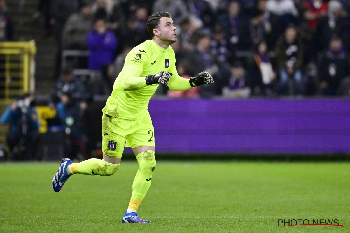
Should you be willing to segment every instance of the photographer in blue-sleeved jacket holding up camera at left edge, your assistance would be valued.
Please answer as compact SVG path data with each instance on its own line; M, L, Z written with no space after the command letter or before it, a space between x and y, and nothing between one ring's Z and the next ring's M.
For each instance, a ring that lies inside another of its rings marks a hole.
M0 118L1 124L9 124L6 141L10 148L9 159L33 160L39 141L39 122L34 107L34 95L26 94L13 102ZM23 147L26 153L22 153Z

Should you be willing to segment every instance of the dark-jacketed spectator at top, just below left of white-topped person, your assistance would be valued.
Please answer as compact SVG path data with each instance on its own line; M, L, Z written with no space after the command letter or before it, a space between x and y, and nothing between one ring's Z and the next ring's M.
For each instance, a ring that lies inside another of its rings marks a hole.
M251 37L253 44L265 41L268 50L273 50L277 39L282 34L280 17L266 10L266 0L258 0L257 10L251 19Z

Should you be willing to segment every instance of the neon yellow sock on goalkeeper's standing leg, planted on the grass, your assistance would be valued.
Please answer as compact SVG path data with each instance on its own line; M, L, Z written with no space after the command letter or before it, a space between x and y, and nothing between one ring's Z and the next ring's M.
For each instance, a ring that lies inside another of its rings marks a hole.
M144 151L136 156L139 170L132 184L131 200L128 208L137 210L144 199L149 186L151 186L152 174L155 168L154 151Z

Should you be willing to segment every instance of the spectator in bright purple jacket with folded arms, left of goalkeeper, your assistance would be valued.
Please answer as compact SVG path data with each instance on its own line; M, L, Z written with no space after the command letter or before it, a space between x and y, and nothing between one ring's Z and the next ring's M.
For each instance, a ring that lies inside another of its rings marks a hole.
M96 20L92 31L87 35L86 44L90 50L88 65L90 70L100 70L103 65L113 63L118 41L114 33L107 30L105 20Z

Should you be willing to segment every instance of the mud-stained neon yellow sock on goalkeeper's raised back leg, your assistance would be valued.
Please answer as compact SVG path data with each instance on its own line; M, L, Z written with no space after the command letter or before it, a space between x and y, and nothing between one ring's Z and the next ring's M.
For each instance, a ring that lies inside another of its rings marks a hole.
M88 159L79 163L72 163L70 169L72 174L110 176L117 172L120 163L113 164L103 159Z

